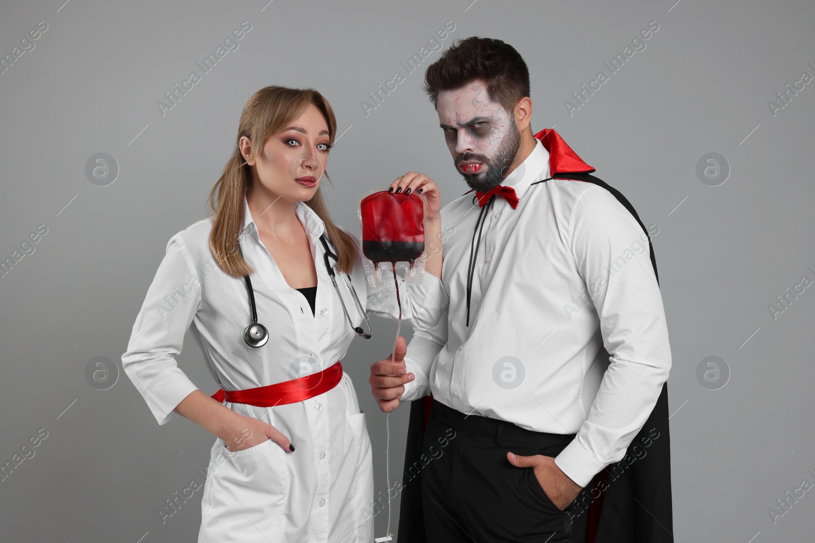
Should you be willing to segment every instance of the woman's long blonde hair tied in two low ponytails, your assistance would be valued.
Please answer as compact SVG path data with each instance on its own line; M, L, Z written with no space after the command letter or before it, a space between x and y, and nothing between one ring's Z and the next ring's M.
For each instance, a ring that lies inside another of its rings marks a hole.
M323 113L328 123L328 143L333 145L337 134L337 119L328 100L314 89L290 89L279 85L263 87L252 95L240 114L235 151L224 166L218 182L209 191L209 208L214 212L209 248L218 267L232 277L239 278L254 273L252 266L244 260L237 248L244 221L244 199L252 182L251 167L247 163L258 155L272 134L289 126L311 104ZM239 146L243 136L252 142L252 151L246 160ZM324 173L324 176L331 182L328 173ZM323 220L328 239L337 249L337 268L350 273L357 257L356 243L331 220L321 189L317 189L305 204Z

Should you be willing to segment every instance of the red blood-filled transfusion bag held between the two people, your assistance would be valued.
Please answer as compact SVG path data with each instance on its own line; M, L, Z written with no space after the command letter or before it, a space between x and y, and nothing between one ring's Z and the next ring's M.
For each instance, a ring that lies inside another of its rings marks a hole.
M362 252L375 265L410 262L425 250L425 211L416 195L375 192L363 199Z

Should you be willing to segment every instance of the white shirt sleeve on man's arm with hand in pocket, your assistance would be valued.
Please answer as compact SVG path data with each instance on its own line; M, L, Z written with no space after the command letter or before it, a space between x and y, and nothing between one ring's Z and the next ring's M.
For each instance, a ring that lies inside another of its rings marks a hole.
M571 252L610 354L588 417L555 458L585 487L623 458L650 416L671 369L671 347L648 241L632 214L608 190L592 186L570 222Z

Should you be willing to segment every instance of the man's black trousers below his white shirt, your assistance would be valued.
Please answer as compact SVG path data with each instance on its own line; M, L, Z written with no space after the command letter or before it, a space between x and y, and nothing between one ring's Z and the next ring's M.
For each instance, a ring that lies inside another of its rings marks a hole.
M574 437L468 416L434 401L422 449L427 541L583 543L588 515L575 514L578 500L558 510L533 469L506 458L510 450L555 457Z

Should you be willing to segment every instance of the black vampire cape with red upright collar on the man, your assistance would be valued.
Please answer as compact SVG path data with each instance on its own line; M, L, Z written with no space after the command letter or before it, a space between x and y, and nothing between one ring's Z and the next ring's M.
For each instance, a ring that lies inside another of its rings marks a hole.
M594 183L608 190L631 212L649 239L651 265L659 284L654 246L648 230L628 199L600 178L566 145L554 129L535 134L549 152L549 172L556 179ZM544 181L548 181L544 180ZM403 474L421 466L425 426L432 396L411 402ZM415 471L413 472L415 473ZM672 543L671 440L668 429L667 383L641 431L628 446L620 462L595 475L577 497L577 515L588 515L585 543ZM497 521L497 520L496 520ZM425 521L421 502L421 471L403 485L399 507L399 543L425 543Z

